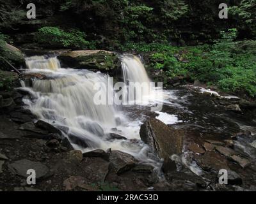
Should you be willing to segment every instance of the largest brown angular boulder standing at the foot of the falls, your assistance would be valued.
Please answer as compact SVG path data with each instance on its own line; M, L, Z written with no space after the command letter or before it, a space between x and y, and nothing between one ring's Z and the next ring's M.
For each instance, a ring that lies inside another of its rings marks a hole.
M184 131L170 128L160 120L147 120L141 126L140 136L163 159L182 152Z

